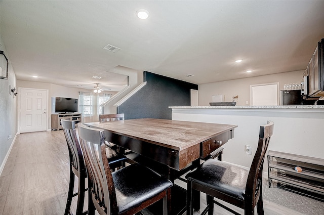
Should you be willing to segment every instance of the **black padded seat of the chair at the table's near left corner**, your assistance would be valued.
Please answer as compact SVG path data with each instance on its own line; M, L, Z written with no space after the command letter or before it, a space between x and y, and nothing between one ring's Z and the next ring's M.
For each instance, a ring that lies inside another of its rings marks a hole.
M171 188L172 183L138 163L112 173L119 214Z

